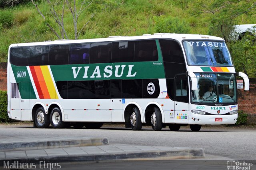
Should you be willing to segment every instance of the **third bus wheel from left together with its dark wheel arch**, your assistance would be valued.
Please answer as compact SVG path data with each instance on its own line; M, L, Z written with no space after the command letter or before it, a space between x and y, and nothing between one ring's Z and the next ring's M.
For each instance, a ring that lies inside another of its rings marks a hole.
M142 111L136 104L128 104L124 110L124 121L126 128L132 130L141 130L142 128Z

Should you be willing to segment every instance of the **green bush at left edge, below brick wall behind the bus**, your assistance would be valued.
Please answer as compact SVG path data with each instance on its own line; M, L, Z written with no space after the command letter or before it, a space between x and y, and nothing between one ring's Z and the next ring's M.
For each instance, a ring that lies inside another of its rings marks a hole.
M0 122L10 122L7 114L7 92L0 90Z

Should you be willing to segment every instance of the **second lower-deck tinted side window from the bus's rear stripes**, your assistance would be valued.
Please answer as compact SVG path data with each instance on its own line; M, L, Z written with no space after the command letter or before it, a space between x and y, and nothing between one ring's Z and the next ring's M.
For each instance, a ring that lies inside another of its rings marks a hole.
M68 98L87 99L88 98L88 81L68 82Z

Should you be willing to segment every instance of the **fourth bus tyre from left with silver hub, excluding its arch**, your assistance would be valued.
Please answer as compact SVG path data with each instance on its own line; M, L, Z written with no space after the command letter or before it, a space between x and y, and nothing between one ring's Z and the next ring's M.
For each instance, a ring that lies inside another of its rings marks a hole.
M154 131L162 130L162 115L158 107L153 108L153 112L151 114L151 124Z

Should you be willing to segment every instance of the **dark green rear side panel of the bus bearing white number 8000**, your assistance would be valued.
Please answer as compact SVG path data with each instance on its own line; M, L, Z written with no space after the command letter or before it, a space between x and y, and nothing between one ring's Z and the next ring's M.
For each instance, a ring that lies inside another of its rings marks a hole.
M36 99L36 94L32 86L28 69L26 66L11 65L15 80L20 84L20 98L22 99Z

